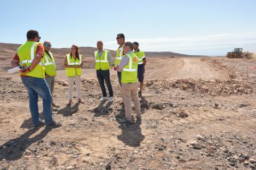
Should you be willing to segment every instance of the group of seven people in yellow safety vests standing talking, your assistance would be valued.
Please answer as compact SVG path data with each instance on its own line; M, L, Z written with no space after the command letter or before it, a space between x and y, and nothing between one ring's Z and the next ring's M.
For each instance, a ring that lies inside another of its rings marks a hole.
M27 32L27 41L17 49L11 65L13 67L27 66L20 70L22 83L25 84L29 95L29 108L34 124L38 129L46 125L46 128L58 128L61 122L57 122L52 117L52 107L60 107L53 102L52 94L54 89L55 75L57 69L51 50L50 41L39 43L39 33L36 30ZM143 74L145 73L146 57L139 49L138 42L125 42L123 33L116 37L119 45L116 50L115 62L113 62L109 50L103 49L102 41L97 41L97 51L94 52L95 70L102 90L100 101L107 100L107 92L104 82L109 91L109 102L113 102L113 89L110 82L110 69L117 71L118 82L120 84L121 95L125 106L125 118L122 123L133 123L131 98L134 102L137 120L141 120L140 101L138 98L138 80L140 82L139 94L143 89ZM68 78L68 104L72 104L73 83L75 80L77 98L79 103L82 101L81 95L81 74L82 74L82 55L79 48L72 45L70 53L65 55L64 66ZM39 118L38 96L43 99L43 115L45 121Z

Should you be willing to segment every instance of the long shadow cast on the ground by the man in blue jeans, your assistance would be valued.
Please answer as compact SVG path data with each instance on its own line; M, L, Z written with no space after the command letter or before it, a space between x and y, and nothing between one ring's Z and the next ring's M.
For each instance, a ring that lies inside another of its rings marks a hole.
M23 152L33 143L42 140L47 133L51 131L51 128L45 128L42 132L30 138L38 129L30 129L20 137L9 140L0 146L0 160L17 160L23 155Z

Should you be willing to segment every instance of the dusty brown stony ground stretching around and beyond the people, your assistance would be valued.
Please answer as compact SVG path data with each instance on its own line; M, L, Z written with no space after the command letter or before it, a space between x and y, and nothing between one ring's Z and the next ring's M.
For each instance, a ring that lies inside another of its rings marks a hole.
M246 76L255 59L148 58L142 121L134 116L133 125L119 123L116 72L114 103L100 103L92 65L83 69L85 104L67 107L59 69L53 116L63 125L52 130L33 129L25 87L5 75L9 60L1 64L0 169L255 169L256 71Z

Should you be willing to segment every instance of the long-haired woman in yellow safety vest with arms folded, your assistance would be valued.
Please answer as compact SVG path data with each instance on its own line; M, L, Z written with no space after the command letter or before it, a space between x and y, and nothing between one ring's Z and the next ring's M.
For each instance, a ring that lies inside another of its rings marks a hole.
M76 92L77 92L77 98L79 103L84 103L82 101L82 95L81 95L81 72L82 72L82 55L79 55L79 50L77 45L71 46L71 51L69 54L65 55L65 62L64 66L66 67L66 75L68 78L68 105L72 104L72 98L73 98L73 83L74 79L76 82Z

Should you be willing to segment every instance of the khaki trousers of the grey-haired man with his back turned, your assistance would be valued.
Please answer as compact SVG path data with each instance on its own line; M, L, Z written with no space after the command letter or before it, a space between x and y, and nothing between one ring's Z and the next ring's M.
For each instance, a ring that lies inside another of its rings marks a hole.
M141 116L140 101L137 95L137 83L122 83L121 95L124 101L125 117L127 120L132 120L132 104L131 98L135 106L137 116Z

